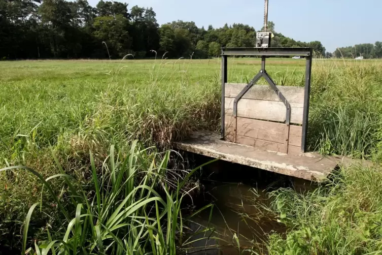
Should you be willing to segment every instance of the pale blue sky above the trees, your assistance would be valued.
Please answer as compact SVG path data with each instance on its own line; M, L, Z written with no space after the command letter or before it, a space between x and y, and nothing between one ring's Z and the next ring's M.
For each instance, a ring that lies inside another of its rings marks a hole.
M95 6L98 0L88 0ZM119 0L120 1L120 0ZM152 7L159 24L195 21L207 28L244 23L256 30L263 23L263 0L126 0ZM321 41L327 51L382 41L382 0L269 0L268 20L275 30L297 41Z

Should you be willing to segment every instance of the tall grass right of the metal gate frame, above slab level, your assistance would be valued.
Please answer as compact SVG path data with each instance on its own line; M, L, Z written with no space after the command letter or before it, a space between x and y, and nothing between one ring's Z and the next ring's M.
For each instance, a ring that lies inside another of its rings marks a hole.
M379 62L340 63L317 60L314 66L310 149L375 158L382 137L382 66Z

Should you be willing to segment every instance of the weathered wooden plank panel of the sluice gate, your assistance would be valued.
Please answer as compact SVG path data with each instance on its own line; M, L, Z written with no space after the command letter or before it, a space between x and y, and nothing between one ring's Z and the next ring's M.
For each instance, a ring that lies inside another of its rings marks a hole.
M226 141L264 150L284 151L286 129L289 128L288 153L301 151L304 87L277 86L291 106L290 126L285 123L285 105L269 85L253 85L237 103L233 101L247 84L225 83L224 138Z

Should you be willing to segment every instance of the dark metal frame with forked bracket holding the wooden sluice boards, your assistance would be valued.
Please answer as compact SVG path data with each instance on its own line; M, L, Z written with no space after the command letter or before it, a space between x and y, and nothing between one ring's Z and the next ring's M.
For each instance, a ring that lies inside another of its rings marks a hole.
M290 116L291 107L288 100L284 95L277 89L276 84L273 82L272 78L267 74L265 70L265 59L268 56L305 56L306 57L306 69L305 69L305 89L304 89L304 108L302 117L302 138L301 138L301 151L306 151L306 134L308 127L308 115L309 115L309 96L310 96L310 78L311 78L311 62L312 62L312 49L311 48L222 48L222 123L221 123L221 136L224 139L224 115L225 115L225 83L227 83L227 56L230 55L252 55L261 56L261 70L255 77L248 83L248 85L242 89L242 91L237 95L233 102L233 116L235 118L236 126L235 132L237 130L237 103L242 98L242 96L261 78L263 77L277 94L280 100L284 103L286 107L286 121L285 124L287 128L285 129L285 143L284 152L288 153L289 144L289 129L290 129ZM236 142L236 135L235 135Z

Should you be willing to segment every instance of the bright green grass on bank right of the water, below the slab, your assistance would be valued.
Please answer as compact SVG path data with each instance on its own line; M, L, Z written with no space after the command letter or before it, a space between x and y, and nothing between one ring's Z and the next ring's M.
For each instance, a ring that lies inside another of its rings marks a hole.
M381 181L379 168L351 167L305 194L272 192L272 210L290 231L271 236L270 253L381 254Z

